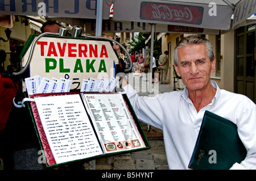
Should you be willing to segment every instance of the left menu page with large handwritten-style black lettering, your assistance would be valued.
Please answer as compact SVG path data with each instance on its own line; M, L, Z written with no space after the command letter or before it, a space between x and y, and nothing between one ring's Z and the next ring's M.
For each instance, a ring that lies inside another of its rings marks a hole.
M103 154L79 94L35 97L35 103L57 164Z

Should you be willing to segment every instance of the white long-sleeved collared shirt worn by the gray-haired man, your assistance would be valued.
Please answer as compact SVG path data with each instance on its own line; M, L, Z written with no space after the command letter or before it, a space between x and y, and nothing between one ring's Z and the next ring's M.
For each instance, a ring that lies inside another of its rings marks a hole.
M139 120L163 130L170 169L188 169L205 110L237 124L248 154L231 169L256 169L256 105L246 96L217 89L212 103L196 111L187 89L154 97L139 96L131 85L123 87ZM254 154L254 156L253 156Z

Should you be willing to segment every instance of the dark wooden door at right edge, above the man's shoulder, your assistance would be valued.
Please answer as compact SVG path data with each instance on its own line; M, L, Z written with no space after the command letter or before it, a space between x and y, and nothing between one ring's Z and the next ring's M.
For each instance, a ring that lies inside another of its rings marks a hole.
M256 102L255 98L255 24L240 27L236 30L235 54L235 92L246 95Z

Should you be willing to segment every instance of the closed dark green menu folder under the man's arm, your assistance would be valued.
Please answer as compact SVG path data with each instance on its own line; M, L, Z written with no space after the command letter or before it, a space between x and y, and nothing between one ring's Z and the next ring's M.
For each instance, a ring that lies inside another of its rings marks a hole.
M241 163L246 154L237 125L205 111L188 167L193 170L228 170L234 163Z

